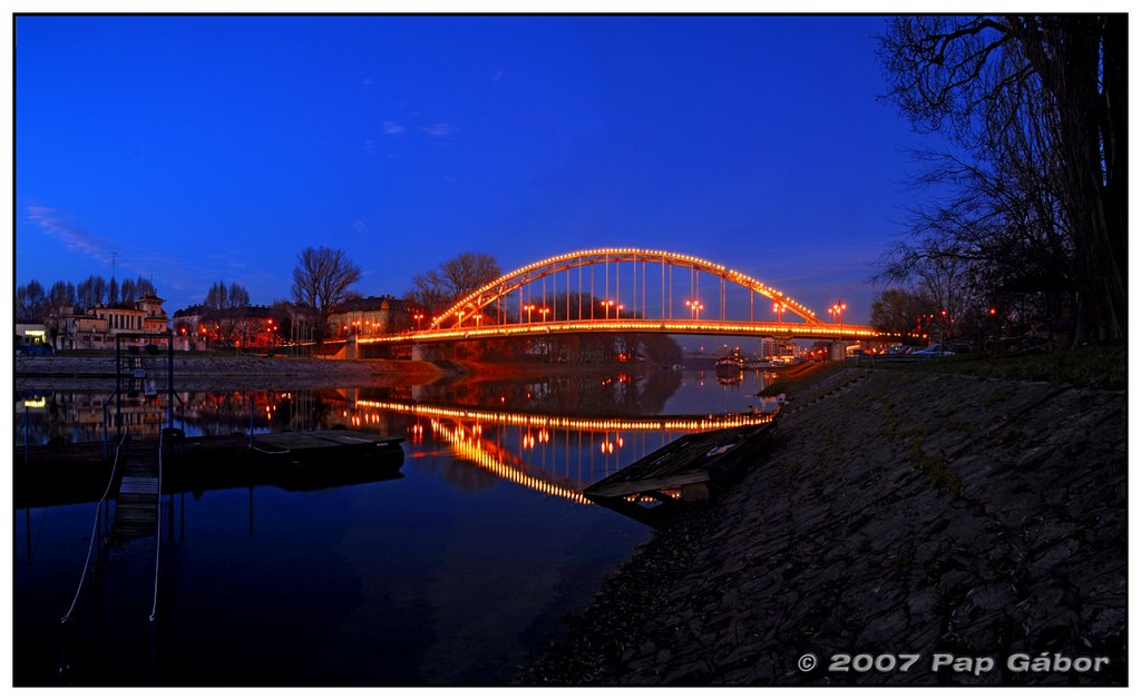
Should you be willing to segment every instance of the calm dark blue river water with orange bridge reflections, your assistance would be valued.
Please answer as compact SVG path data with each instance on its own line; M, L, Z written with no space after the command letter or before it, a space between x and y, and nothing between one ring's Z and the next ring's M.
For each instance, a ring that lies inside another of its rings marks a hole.
M123 583L153 569L152 538L99 559L66 636L98 496L17 507L15 683L509 682L649 536L581 490L697 421L747 412L763 381L686 372L183 392L175 424L187 436L342 425L403 436L404 463L354 486L164 496L157 625L146 622L151 589ZM105 426L113 439L107 393L19 393L17 447L102 440ZM163 397L128 397L120 410L136 434L167 416Z

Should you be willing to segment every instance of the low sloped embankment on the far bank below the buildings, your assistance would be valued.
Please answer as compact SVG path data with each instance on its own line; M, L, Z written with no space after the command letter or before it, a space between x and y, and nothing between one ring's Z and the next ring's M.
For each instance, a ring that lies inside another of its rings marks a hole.
M165 381L165 356L148 356L156 381ZM179 357L175 356L175 385L179 389L241 386L242 389L290 389L431 382L455 366L414 360L326 360L292 357ZM114 381L113 356L17 357L17 388L78 388Z

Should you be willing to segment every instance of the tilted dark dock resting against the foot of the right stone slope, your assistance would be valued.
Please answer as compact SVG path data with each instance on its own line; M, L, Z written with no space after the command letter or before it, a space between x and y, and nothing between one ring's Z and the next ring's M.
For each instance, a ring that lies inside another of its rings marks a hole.
M774 425L746 425L682 436L622 471L588 487L583 495L648 524L658 524L679 500L704 500L727 488L767 451ZM647 507L648 504L657 503Z

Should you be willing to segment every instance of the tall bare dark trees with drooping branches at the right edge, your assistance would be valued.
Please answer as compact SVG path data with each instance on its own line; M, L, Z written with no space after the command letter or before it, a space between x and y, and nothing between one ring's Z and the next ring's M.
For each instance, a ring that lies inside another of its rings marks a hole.
M1124 340L1127 16L898 17L880 59L885 98L952 147L915 154L944 194L876 279L929 315Z

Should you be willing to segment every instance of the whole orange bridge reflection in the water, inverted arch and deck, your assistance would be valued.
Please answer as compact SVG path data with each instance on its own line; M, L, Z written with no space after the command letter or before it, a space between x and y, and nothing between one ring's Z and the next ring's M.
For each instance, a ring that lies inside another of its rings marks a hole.
M366 399L356 408L413 417L413 447L438 440L501 479L583 505L591 483L682 434L772 421L772 414L759 413L578 417Z

